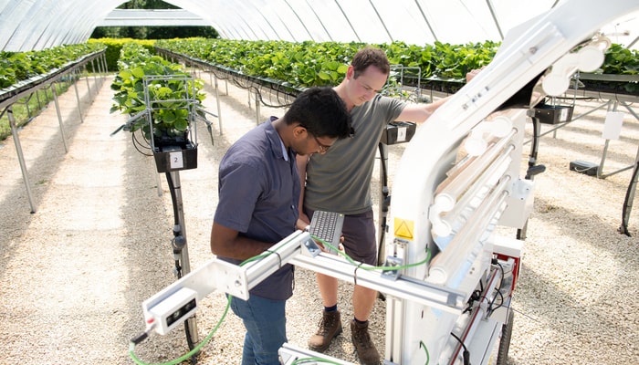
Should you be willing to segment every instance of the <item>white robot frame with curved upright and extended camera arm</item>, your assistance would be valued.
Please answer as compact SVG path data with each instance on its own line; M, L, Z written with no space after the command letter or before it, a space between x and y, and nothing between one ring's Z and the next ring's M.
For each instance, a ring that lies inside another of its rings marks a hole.
M269 249L275 255L246 266L214 258L147 299L147 330L166 334L214 291L246 299L288 263L386 295L386 364L505 361L495 348L512 326L523 242L495 229L523 228L532 208L534 183L519 178L527 109L546 94L563 93L577 69L599 68L610 42L598 30L637 10L635 0L568 0L508 34L490 65L404 151L394 176L386 267L353 266L298 231ZM508 107L531 82L529 100ZM280 349L283 364L311 356L346 363L288 344Z

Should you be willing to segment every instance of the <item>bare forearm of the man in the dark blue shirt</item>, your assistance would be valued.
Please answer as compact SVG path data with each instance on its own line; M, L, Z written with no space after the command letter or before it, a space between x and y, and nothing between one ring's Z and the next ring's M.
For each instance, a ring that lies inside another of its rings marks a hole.
M213 223L211 228L211 252L218 256L246 260L260 255L275 243L260 242L238 235L235 229Z

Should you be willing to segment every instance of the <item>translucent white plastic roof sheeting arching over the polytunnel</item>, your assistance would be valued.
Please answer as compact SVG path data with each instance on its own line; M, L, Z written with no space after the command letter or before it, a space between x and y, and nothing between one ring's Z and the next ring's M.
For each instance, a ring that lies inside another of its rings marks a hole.
M500 41L508 29L566 0L165 0L182 16L155 19L183 25L198 16L228 39L300 42L451 44ZM0 49L26 51L85 42L120 0L0 0ZM579 2L572 4L578 6ZM575 9L576 12L584 9ZM624 46L639 36L637 14L608 29ZM144 22L131 16L131 26ZM198 20L201 25L202 21ZM114 23L111 23L114 24ZM148 24L148 23L147 23ZM121 20L118 25L122 25ZM628 34L624 34L627 32Z

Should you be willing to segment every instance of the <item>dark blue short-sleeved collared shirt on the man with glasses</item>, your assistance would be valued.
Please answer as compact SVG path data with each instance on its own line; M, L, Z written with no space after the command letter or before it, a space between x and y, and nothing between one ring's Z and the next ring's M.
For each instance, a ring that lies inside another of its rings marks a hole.
M239 235L275 245L295 231L300 185L295 152L283 148L273 120L250 130L226 151L219 166L214 219ZM286 265L250 294L282 300L293 294L292 287L293 267Z

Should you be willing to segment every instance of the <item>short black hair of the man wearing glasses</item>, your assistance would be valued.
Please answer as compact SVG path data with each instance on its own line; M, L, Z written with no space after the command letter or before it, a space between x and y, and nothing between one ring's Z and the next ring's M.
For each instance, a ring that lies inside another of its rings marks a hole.
M351 113L329 87L302 91L285 114L288 124L298 122L316 137L346 138L351 135Z

